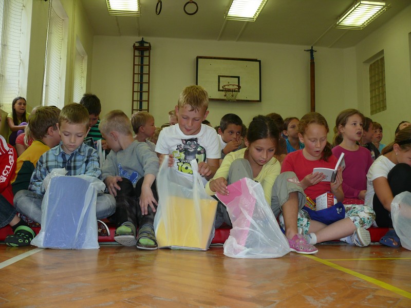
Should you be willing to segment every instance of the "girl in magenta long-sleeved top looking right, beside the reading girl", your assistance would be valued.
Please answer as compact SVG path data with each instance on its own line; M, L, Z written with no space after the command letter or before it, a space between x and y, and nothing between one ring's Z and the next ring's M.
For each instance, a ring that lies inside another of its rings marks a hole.
M369 151L357 144L363 134L363 118L362 113L356 109L341 111L335 120L333 142L335 146L332 148L335 157L340 157L341 153L345 154L346 167L343 171L342 184L344 197L361 200L365 198L367 172L372 164Z

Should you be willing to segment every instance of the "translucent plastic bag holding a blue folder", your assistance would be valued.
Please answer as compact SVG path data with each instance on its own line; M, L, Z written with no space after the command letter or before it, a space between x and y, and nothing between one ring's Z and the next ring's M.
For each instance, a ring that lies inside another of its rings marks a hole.
M51 177L42 202L42 228L31 244L42 248L99 248L96 203L97 191L104 188L95 177Z

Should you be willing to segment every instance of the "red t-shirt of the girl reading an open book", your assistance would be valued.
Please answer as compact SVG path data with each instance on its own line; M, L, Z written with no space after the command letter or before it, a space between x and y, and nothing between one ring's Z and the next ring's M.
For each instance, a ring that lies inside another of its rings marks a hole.
M328 161L322 159L310 161L303 155L303 150L288 153L281 166L281 172L293 171L298 180L302 181L307 175L312 174L314 168L330 168L333 169L337 165L337 157L331 155ZM324 192L331 191L330 182L320 182L313 186L307 187L304 192L313 201Z

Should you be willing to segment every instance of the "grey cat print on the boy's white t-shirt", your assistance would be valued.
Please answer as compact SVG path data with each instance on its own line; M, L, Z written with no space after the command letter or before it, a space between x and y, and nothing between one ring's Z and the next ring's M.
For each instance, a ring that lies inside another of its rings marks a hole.
M181 139L181 144L177 145L173 156L178 160L178 171L190 175L193 174L190 161L195 159L197 163L205 162L207 157L206 149L198 143L198 138Z

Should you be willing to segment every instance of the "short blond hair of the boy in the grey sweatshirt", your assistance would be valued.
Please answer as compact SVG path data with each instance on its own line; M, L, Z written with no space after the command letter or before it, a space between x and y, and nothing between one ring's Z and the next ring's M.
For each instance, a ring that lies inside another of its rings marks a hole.
M125 136L133 136L133 127L130 119L122 110L111 110L100 121L99 130L108 135L111 131L117 131Z

